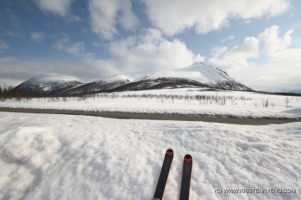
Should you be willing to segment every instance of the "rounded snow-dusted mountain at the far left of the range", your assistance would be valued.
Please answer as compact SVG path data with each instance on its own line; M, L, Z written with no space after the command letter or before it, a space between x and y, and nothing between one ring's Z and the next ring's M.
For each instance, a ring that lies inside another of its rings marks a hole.
M14 89L39 90L46 94L61 94L69 89L85 85L86 81L62 74L39 74Z

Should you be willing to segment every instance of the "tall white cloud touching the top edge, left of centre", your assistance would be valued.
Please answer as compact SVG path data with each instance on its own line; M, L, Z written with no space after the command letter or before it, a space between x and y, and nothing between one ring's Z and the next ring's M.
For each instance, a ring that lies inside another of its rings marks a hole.
M90 0L88 9L93 32L107 40L111 40L118 33L116 24L125 30L132 30L138 23L130 0Z

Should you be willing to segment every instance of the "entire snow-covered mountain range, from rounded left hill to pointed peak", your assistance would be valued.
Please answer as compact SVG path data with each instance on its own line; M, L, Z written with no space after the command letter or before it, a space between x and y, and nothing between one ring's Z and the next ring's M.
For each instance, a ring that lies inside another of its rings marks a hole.
M252 88L235 80L225 71L202 62L173 70L154 73L128 72L87 82L61 74L40 74L20 84L16 89L42 88L49 94L92 94L179 87L253 91Z

